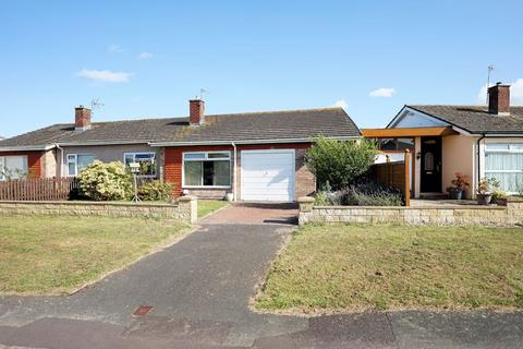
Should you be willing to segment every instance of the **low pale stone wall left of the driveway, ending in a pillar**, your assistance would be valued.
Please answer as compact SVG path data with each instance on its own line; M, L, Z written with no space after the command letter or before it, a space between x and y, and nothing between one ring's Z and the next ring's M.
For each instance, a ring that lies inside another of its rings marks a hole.
M173 204L0 201L0 215L144 217L192 224L197 219L197 201L193 196L182 196Z

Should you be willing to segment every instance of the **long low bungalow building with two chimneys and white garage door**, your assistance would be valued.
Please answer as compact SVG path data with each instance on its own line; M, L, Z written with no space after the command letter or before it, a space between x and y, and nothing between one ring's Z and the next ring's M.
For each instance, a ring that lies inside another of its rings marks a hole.
M190 100L188 118L53 124L0 141L0 180L73 177L95 159L141 163L139 176L172 182L174 194L292 202L315 191L304 165L313 137L361 136L341 108L205 115Z

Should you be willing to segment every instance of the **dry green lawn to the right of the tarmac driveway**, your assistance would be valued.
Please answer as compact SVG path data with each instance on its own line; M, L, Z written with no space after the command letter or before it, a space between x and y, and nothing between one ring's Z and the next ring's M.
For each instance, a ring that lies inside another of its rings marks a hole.
M256 308L523 308L523 229L306 226Z

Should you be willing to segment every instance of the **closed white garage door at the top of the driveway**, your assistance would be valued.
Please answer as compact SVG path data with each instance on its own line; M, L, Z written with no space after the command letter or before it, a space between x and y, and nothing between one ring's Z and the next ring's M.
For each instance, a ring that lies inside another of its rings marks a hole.
M242 151L242 200L294 201L294 149Z

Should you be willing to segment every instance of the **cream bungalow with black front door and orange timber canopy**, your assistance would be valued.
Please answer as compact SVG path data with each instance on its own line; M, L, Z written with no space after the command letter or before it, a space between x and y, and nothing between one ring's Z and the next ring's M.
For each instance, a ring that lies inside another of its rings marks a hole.
M411 151L414 197L445 194L455 172L470 177L469 198L483 178L497 178L502 190L521 193L523 106L510 105L510 85L491 86L488 97L488 106L408 105L386 129L362 133L379 140L391 160Z

